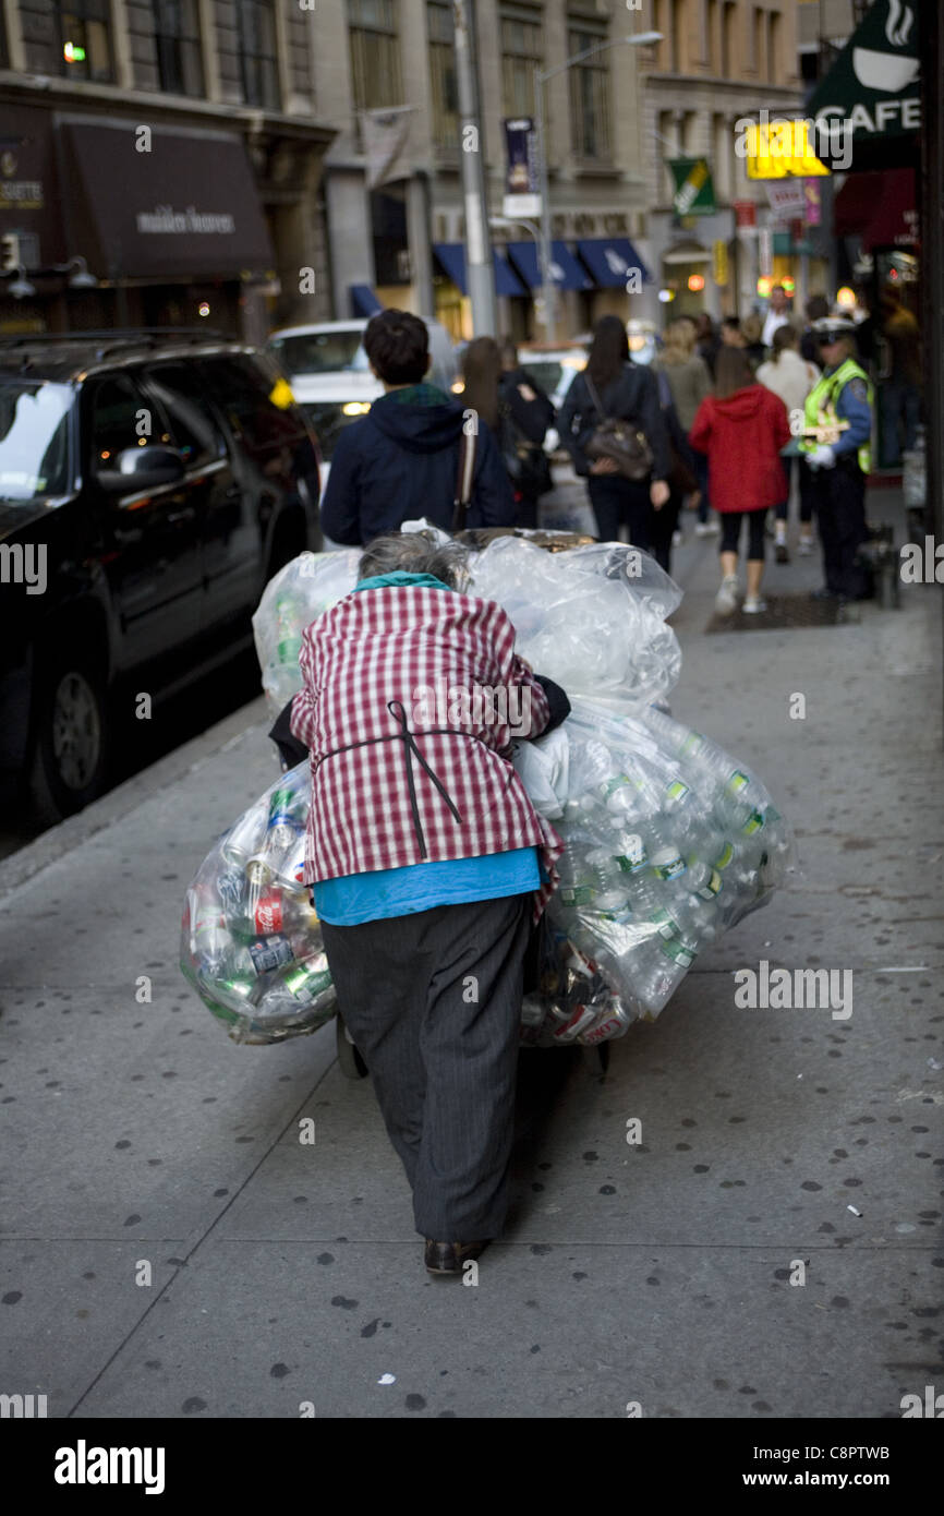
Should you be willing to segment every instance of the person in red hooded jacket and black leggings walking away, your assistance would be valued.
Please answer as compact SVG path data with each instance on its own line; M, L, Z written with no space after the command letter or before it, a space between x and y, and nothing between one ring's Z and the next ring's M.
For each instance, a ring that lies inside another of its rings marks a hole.
M711 503L721 515L721 588L715 605L723 615L736 609L738 541L747 515L747 599L744 609L767 609L761 599L764 578L764 522L767 511L786 494L780 449L789 441L786 406L756 384L750 364L736 347L723 347L715 370L715 393L695 414L688 441L708 453Z

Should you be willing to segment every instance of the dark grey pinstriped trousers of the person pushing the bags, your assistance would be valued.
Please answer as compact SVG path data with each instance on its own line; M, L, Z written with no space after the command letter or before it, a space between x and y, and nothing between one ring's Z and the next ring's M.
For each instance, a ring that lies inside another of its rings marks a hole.
M533 894L321 923L423 1237L499 1237L508 1208L523 963Z

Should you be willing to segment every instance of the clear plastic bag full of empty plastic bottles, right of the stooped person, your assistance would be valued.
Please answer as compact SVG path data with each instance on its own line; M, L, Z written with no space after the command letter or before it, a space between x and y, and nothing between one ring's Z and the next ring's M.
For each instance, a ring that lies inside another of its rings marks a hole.
M708 737L653 709L571 703L550 917L652 1019L697 954L783 882L791 837L759 779Z

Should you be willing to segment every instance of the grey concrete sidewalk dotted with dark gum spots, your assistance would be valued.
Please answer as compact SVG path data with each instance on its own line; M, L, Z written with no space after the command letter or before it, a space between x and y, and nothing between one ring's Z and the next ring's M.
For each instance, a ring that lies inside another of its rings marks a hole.
M524 1055L514 1211L476 1287L426 1275L333 1026L236 1048L179 973L186 884L277 773L261 702L0 864L3 1393L79 1417L764 1420L897 1417L935 1383L939 594L705 637L717 540L676 573L673 713L764 778L805 873L606 1079ZM817 581L800 559L767 587ZM850 970L852 1016L736 1008L761 960Z

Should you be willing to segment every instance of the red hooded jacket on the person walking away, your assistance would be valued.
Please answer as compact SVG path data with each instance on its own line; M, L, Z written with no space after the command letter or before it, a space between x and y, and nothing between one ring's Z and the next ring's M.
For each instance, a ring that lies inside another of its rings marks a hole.
M780 449L789 435L786 406L761 384L702 400L688 441L708 453L715 511L765 511L786 499Z

